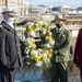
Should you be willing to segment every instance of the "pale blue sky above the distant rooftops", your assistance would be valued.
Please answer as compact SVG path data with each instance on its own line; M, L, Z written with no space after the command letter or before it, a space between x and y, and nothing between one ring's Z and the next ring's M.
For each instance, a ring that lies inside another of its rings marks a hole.
M68 5L71 8L82 7L82 0L26 0L33 5L49 4L49 5Z

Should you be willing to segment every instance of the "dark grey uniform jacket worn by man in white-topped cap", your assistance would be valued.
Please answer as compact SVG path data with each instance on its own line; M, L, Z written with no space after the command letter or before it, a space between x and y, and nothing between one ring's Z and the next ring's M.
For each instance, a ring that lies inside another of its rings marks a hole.
M0 68L22 67L19 37L15 30L2 21L0 28Z

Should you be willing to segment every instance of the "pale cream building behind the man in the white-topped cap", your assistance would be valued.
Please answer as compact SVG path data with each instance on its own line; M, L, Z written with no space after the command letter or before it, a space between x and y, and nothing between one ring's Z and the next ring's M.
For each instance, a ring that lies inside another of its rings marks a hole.
M20 16L28 15L30 3L27 3L27 1L25 0L0 0L0 12L4 8L14 8L15 12L17 13L20 17ZM1 19L2 17L0 14L0 20ZM19 22L19 19L16 19L16 22Z

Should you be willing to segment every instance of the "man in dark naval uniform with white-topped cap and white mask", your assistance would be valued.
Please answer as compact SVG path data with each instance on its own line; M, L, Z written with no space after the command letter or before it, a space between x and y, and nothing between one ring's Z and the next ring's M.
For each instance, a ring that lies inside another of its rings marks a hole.
M14 82L16 68L23 67L20 42L13 26L15 12L4 9L0 27L0 82Z

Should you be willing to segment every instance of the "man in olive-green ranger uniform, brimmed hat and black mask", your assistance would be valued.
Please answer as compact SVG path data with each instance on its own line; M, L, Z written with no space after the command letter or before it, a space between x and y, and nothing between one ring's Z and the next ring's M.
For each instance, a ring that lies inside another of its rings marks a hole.
M61 14L56 14L52 22L56 24L56 27L51 28L55 39L51 59L51 82L68 82L67 65L71 42L70 32L63 26L66 20Z

